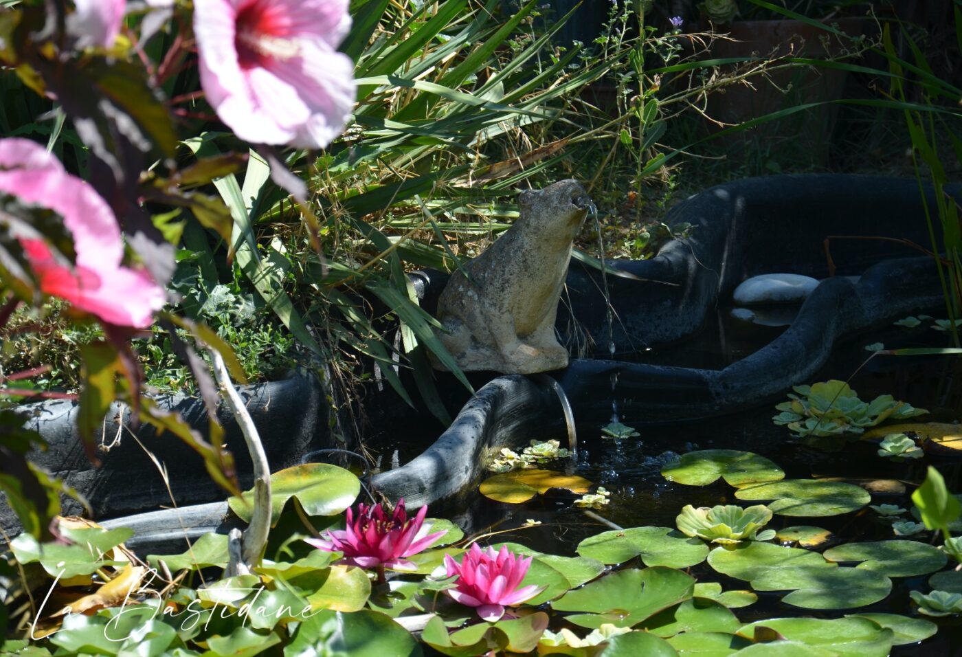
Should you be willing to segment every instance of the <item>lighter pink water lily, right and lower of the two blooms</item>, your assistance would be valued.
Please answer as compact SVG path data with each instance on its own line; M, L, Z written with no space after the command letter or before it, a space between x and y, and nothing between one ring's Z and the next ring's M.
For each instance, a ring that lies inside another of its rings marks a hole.
M455 588L444 593L456 602L476 607L478 616L485 620L500 619L505 607L515 607L544 591L544 587L533 584L518 588L531 566L531 557L516 556L504 545L495 552L494 547L482 550L473 543L460 564L445 554L444 566L448 577L458 576Z

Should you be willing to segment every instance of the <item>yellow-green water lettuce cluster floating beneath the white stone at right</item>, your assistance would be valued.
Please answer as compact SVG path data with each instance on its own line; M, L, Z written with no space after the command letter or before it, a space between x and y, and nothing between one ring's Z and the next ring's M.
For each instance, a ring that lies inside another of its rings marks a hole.
M861 434L887 419L927 413L907 402L896 401L891 394L879 395L871 402L862 401L846 382L836 379L795 386L793 390L796 394L789 393L790 401L775 406L781 413L772 420L775 424L787 425L799 438Z

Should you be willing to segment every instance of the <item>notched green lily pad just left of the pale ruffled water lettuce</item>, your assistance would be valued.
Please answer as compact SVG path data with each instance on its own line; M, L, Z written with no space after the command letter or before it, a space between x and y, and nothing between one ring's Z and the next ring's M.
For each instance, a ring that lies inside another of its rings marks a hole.
M708 546L668 527L633 527L589 537L578 543L577 552L606 565L640 556L646 566L684 569L703 562Z

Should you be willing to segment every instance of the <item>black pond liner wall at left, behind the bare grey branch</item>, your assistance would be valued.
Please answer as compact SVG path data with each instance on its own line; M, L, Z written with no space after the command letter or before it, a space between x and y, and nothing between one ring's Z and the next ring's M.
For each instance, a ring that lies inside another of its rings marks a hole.
M259 430L273 437L265 441L271 467L293 466L311 450L334 446L328 429L328 404L313 377L292 376L239 386L238 392ZM199 399L175 394L159 395L155 401L164 410L179 412L207 438L207 412ZM201 457L185 442L169 433L158 435L153 427L143 424L136 434L139 442L134 440L129 431L130 409L118 403L112 405L105 418L99 441L105 446L115 444L98 448L101 463L95 467L77 434L78 410L77 403L69 400L26 404L18 409L27 419L26 426L38 431L49 445L45 451L34 450L30 460L82 493L94 518L136 514L170 503L167 484L146 450L165 463L170 492L179 505L209 502L223 496ZM240 427L223 405L218 408L217 417L224 427L222 442L234 454L241 486L249 488L253 485L252 466ZM79 502L63 497L64 515L83 512ZM9 533L19 531L19 521L6 500L0 503L0 527Z

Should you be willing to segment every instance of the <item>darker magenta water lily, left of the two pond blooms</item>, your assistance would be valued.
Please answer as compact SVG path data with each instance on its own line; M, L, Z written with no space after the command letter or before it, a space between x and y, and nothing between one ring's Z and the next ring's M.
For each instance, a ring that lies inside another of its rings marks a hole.
M403 557L418 554L447 533L428 534L430 526L423 526L425 515L427 507L422 506L418 516L409 520L403 499L397 501L392 518L380 504L359 504L357 518L347 510L345 529L329 530L326 539L306 541L328 552L343 552L342 562L351 566L413 570L415 565Z

